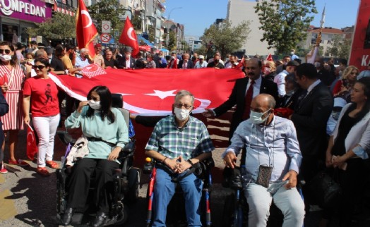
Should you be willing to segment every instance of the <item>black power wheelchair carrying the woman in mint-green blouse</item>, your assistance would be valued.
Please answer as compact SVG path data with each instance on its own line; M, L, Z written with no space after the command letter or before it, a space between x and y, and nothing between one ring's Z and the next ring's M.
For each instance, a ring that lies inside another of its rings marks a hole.
M121 94L112 94L113 107L120 109L124 115L126 125L129 127L129 111L121 109L122 97ZM59 139L66 145L66 153L64 157L67 157L71 147L75 144L71 135L68 135L66 131L58 131L56 134ZM139 190L141 188L141 170L140 168L133 167L133 156L135 154L135 140L131 139L129 143L121 150L119 154L119 161L121 162L119 168L116 169L114 174L114 194L111 204L111 211L109 218L105 222L104 226L109 225L121 225L128 219L128 210L126 208L127 203L136 202L139 196ZM65 160L62 158L62 167L56 170L56 217L61 219L64 212L66 211L66 203L68 197L68 178L70 176L71 169L66 168ZM93 204L93 200L90 197L93 195L95 190L94 174L90 180L90 190L88 195L88 204L85 204L84 213L73 214L71 225L86 224L90 221L90 216L96 213L96 207ZM89 203L90 201L90 203ZM94 215L95 216L95 215Z

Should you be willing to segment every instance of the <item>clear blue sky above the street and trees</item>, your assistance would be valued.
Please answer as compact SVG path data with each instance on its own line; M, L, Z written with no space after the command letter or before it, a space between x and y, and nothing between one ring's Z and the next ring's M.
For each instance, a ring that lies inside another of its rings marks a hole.
M320 25L321 13L326 4L326 27L352 26L357 18L359 1L316 0L318 13L314 15L315 19L311 25ZM167 0L165 16L168 18L169 12L173 10L171 19L185 26L186 36L201 36L205 28L213 24L217 18L226 18L227 2L228 0Z

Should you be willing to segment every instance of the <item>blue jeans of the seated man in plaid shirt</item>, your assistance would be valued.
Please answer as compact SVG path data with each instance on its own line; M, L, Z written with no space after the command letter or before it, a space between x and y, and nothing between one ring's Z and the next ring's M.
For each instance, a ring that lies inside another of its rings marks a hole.
M181 176L184 173L179 174ZM193 173L179 181L184 191L186 219L188 226L202 226L199 204L202 197L203 181ZM154 185L154 219L152 227L166 226L167 206L175 192L175 184L169 173L157 168Z

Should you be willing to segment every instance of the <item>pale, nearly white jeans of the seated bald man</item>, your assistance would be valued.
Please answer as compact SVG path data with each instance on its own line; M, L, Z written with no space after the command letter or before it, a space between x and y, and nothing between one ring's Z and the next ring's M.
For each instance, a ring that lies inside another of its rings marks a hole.
M297 188L286 189L286 183L287 180L270 183L268 188L249 183L244 189L249 204L249 226L266 226L272 200L284 214L283 227L303 226L304 202Z

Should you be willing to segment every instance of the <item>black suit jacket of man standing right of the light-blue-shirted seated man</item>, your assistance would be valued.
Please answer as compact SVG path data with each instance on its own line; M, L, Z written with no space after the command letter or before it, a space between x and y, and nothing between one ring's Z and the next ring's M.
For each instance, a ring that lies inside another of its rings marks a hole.
M292 121L297 129L299 147L304 157L325 156L326 123L333 105L333 95L323 82L296 104Z

